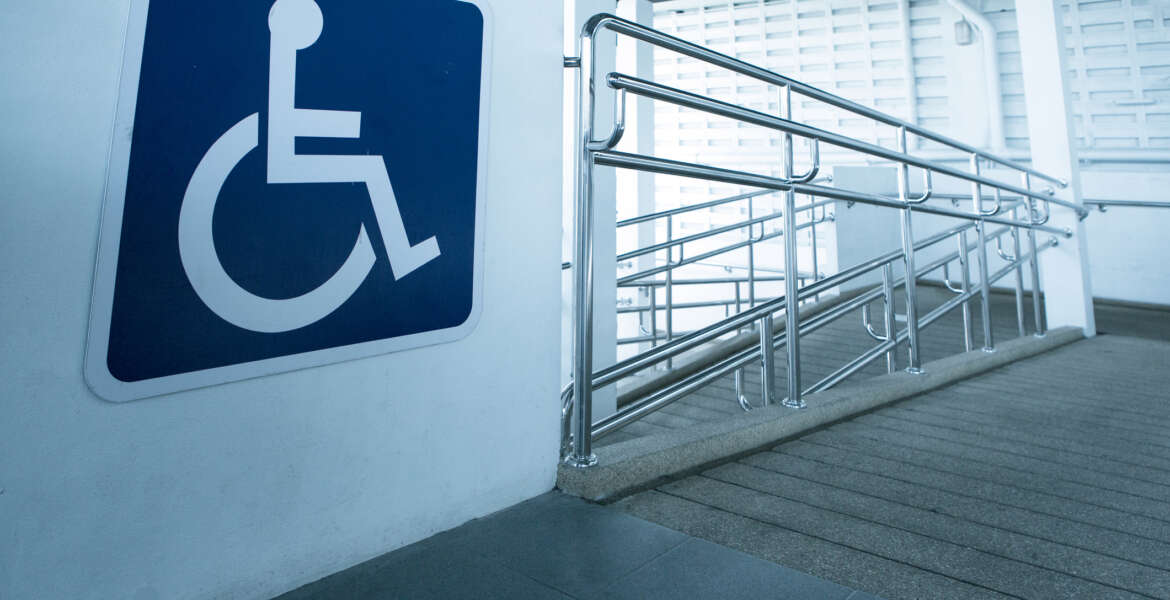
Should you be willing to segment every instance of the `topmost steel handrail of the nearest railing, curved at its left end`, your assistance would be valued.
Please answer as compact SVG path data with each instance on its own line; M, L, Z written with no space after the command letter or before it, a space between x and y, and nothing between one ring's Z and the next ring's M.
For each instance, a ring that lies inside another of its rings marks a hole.
M598 14L598 15L594 15L593 18L591 18L585 23L585 26L583 28L583 36L592 39L603 28L610 29L611 32L614 32L617 34L627 35L627 36L633 37L635 40L644 41L646 43L651 43L651 44L658 46L660 48L665 48L665 49L668 49L668 50L676 51L679 54L689 56L691 58L696 58L696 60L700 60L700 61L703 61L703 62L707 62L707 63L711 63L711 64L715 64L715 65L718 65L718 67L723 67L724 69L738 73L741 75L746 75L748 77L752 77L755 80L758 80L758 81L762 81L762 82L765 82L765 83L771 83L772 85L780 85L780 87L787 85L789 89L791 89L792 91L798 92L798 94L800 94L803 96L806 96L808 98L817 99L817 101L824 102L826 104L830 104L830 105L837 106L839 109L844 109L844 110L847 110L847 111L851 111L851 112L854 112L854 113L858 113L858 115L861 115L861 116L865 116L865 117L869 117L869 118L872 118L874 120L885 123L887 125L893 125L895 127L906 127L907 132L914 133L915 136L918 136L921 138L925 138L925 139L929 139L929 140L932 140L932 142L937 142L937 143L943 144L943 145L951 146L951 147L957 149L957 150L962 150L962 151L968 152L970 154L978 156L979 158L983 158L985 160L991 160L993 163L998 163L1000 165L1004 165L1006 167L1013 168L1016 171L1020 171L1020 172L1024 172L1024 173L1030 173L1030 174L1032 174L1034 177L1038 177L1038 178L1041 178L1041 179L1046 179L1046 180L1052 181L1052 182L1054 182L1057 185L1060 185L1061 187L1067 186L1067 182L1064 181L1064 180L1061 180L1061 179L1059 179L1059 178L1055 178L1055 177L1041 173L1041 172L1035 171L1033 168L1028 168L1028 167L1026 167L1024 165L1020 165L1020 164L1014 163L1012 160L1009 160L1006 158L998 157L998 156L992 154L990 152L985 152L983 150L979 150L977 147L970 146L970 145L964 144L962 142L958 142L956 139L951 139L951 138L949 138L947 136L943 136L941 133L936 133L936 132L930 131L928 129L920 127L920 126L917 126L917 125L915 125L913 123L908 123L908 122L902 120L900 118L896 118L896 117L893 117L890 115L886 115L886 113L883 113L881 111L878 111L878 110L870 109L868 106L865 106L862 104L858 104L855 102L845 99L845 98L842 98L840 96L837 96L834 94L830 94L827 91L820 90L820 89L814 88L812 85L808 85L806 83L801 83L801 82L792 80L790 77L785 77L785 76L783 76L780 74L770 71L768 69L763 69L760 67L756 67L755 64L746 63L746 62L741 61L738 58L732 58L731 56L728 56L725 54L721 54L721 53L717 53L715 50L710 50L710 49L703 48L702 46L688 42L686 40L681 40L681 39L675 37L673 35L668 35L668 34L665 34L665 33L651 29L651 28L648 28L646 26L642 26L642 25L635 23L633 21L628 21L628 20L621 19L619 16L614 16L612 14L604 14L603 13L603 14Z

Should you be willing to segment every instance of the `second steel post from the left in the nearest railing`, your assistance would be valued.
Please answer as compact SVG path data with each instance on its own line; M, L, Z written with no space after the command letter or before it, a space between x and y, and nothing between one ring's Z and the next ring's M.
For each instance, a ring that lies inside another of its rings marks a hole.
M792 119L792 87L780 90L784 117ZM784 177L792 179L796 173L793 164L792 133L784 135ZM804 408L800 398L800 275L797 261L797 193L790 188L784 193L784 332L787 336L789 358L789 395L784 406Z

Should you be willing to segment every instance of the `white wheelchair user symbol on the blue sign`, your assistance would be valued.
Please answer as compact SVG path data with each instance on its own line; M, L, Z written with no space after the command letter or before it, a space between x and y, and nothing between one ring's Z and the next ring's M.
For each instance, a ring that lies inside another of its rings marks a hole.
M432 236L411 244L383 157L310 156L295 150L298 137L360 137L360 112L296 108L296 53L317 41L323 25L314 0L276 0L269 12L268 184L365 184L391 270L399 280L439 257L439 242ZM362 226L340 268L316 289L294 298L256 296L232 280L215 251L212 216L223 182L259 146L259 113L245 117L212 144L195 167L179 212L179 256L207 308L236 326L276 333L311 325L340 308L369 276L374 253Z

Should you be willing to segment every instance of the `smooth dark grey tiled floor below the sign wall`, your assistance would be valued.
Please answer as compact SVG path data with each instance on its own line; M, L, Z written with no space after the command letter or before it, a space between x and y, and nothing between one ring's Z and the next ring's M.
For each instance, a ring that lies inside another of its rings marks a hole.
M550 492L278 600L875 600L718 544Z

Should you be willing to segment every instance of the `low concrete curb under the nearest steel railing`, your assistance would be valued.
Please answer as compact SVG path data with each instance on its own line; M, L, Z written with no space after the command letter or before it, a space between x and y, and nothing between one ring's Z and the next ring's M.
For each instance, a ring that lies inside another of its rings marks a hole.
M925 373L893 373L807 396L808 408L769 406L723 421L700 423L605 446L598 464L577 469L560 464L557 487L593 502L612 502L827 423L950 385L1009 363L1083 339L1079 327L1061 327L1042 338L1025 337L999 345L994 353L976 350L924 365Z

